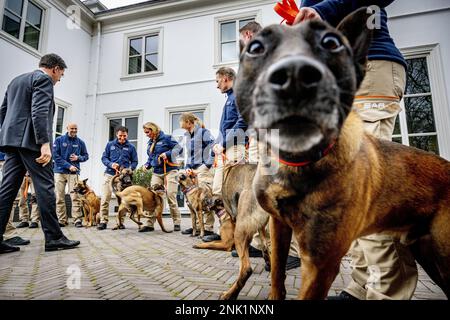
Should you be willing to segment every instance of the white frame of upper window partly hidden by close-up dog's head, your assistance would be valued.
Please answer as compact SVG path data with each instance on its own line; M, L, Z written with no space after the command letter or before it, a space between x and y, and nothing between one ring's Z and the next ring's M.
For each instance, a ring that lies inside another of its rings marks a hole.
M261 23L261 10L247 11L240 14L233 14L227 16L216 17L214 21L214 66L218 69L225 66L236 66L239 63L239 57L232 61L221 61L221 32L220 26L226 22L237 22L238 20L255 19L256 22ZM236 23L236 50L239 52L239 23Z

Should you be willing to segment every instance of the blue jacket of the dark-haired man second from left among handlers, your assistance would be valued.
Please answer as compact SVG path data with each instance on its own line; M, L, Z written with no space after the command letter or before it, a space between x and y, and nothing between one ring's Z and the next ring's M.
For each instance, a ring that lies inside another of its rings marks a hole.
M103 152L102 162L106 166L105 173L115 175L116 171L111 167L113 163L119 164L123 168L136 169L138 157L136 148L128 140L120 144L114 139L106 144Z

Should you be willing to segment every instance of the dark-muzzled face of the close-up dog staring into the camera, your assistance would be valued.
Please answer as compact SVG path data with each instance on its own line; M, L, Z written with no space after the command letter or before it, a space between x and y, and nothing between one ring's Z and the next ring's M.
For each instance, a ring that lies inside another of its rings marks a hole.
M364 74L366 17L357 11L339 30L320 20L272 25L245 47L237 104L251 127L279 129L271 147L303 153L337 137Z

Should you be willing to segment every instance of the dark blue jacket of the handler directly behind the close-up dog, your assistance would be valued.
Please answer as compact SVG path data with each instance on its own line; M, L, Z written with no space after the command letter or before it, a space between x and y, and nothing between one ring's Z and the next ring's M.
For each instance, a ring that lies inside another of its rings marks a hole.
M323 20L336 27L345 16L358 8L370 5L379 6L381 8L381 28L375 29L368 59L394 61L400 63L406 69L405 59L395 46L387 26L387 13L384 8L392 2L394 0L303 0L302 7L315 9Z

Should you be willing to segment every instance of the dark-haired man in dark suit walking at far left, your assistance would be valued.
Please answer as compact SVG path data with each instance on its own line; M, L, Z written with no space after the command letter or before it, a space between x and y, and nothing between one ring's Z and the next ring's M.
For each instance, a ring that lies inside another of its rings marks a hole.
M45 251L69 249L80 244L67 239L59 227L51 165L55 112L53 86L60 81L67 66L61 57L48 54L41 58L39 68L12 80L0 107L0 151L6 154L0 187L0 253L19 250L19 247L5 243L3 234L27 171L36 189Z

